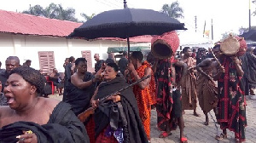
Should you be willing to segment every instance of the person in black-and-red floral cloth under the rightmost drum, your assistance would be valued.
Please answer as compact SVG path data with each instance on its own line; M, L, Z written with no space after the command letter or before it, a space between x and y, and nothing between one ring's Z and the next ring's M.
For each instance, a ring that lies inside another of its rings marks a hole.
M218 106L216 117L223 133L216 136L217 140L227 138L227 130L235 132L236 142L245 141L246 103L239 80L243 76L241 62L237 56L220 54L220 44L213 48L219 59L213 66L213 79L218 80ZM233 115L233 116L230 116Z

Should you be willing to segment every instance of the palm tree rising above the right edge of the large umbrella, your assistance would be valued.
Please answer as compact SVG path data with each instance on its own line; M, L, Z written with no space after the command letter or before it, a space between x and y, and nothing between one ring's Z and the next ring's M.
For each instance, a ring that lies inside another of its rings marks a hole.
M164 4L160 12L176 19L184 17L183 9L179 6L179 3L177 1L171 3L170 5Z

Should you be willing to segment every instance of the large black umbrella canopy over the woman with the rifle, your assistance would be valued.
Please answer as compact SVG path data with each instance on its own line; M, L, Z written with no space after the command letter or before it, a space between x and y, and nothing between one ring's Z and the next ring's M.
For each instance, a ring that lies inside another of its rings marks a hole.
M161 35L166 31L185 30L184 24L151 9L115 9L97 14L69 37L135 37ZM129 44L129 43L128 43Z

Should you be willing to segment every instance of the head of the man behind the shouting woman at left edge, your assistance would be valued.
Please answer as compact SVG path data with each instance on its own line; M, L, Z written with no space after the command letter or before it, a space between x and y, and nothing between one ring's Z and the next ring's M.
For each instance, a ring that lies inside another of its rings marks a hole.
M20 59L17 56L9 56L5 60L5 68L6 68L6 72L8 73L14 70L18 66L20 66Z

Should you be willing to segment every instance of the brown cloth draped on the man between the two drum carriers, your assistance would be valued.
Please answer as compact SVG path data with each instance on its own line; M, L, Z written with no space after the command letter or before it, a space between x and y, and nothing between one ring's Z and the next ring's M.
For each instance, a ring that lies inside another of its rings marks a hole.
M182 106L183 110L194 110L196 108L196 90L195 90L195 75L191 72L195 67L195 60L189 57L183 60L188 65L188 72L183 76L182 87Z

